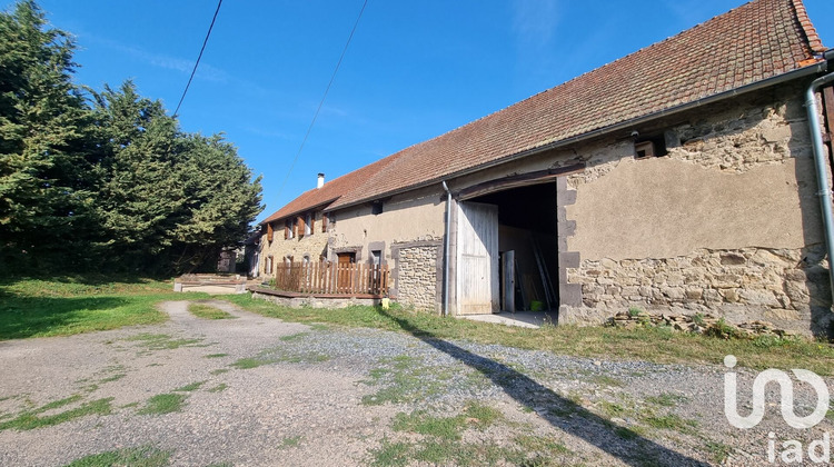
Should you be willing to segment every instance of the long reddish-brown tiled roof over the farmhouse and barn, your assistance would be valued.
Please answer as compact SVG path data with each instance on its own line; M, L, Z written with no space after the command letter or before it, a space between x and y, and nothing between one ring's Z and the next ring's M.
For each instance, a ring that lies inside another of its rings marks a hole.
M310 190L265 222L425 186L536 148L822 61L801 0L754 0L570 81ZM325 195L326 192L326 195Z

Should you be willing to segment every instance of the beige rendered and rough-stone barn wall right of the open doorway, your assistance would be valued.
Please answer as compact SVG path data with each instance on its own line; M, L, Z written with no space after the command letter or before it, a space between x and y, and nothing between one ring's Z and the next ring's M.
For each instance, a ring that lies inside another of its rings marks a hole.
M655 128L668 155L635 159L628 141L582 153L562 322L616 312L711 312L824 335L832 322L802 87L705 107ZM562 219L560 219L562 220Z

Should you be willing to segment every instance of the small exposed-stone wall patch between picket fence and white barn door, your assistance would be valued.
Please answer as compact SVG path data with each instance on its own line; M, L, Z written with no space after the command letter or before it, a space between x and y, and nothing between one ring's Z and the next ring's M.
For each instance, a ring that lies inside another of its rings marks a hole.
M395 244L397 301L424 311L437 311L440 300L439 279L443 276L440 241Z

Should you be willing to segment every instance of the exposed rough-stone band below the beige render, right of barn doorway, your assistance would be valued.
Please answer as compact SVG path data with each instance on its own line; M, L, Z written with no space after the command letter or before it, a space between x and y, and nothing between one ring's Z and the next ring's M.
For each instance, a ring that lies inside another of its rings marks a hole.
M729 322L764 319L792 331L823 335L831 326L827 264L822 247L801 250L702 249L663 259L586 260L570 269L583 306L566 322L600 324L637 307L712 312ZM808 328L811 324L811 328Z

